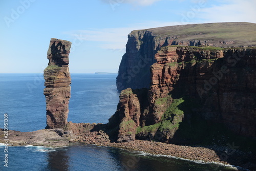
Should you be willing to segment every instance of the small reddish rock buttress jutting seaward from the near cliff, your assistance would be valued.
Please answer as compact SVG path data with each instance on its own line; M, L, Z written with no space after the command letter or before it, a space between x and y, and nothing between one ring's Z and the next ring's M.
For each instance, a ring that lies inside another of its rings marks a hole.
M120 93L120 100L116 113L109 119L108 130L110 135L118 142L133 141L140 118L144 114L144 106L147 102L146 89L126 89Z

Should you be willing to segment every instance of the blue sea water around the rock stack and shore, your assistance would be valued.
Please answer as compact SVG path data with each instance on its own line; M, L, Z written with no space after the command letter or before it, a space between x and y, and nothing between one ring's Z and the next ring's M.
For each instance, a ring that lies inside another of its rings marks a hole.
M116 77L117 74L71 74L68 121L107 123L119 101ZM4 127L7 114L10 130L31 132L45 129L44 88L43 74L0 74L0 128ZM0 170L225 171L237 168L114 147L71 143L61 148L0 144Z

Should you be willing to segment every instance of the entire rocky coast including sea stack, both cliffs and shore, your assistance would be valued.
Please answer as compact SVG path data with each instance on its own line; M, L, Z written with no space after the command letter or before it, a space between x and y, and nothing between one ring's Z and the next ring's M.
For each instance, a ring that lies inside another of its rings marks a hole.
M9 131L10 145L84 142L256 170L256 40L232 37L227 28L256 34L250 23L133 31L117 77L120 100L107 124L67 122L71 44L51 39L47 127Z

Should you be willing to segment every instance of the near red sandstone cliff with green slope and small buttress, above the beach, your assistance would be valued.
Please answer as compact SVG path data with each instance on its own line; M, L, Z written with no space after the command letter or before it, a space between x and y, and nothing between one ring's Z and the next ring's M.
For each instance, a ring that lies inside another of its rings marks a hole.
M151 66L150 89L121 92L109 122L113 134L118 141L189 143L225 125L236 135L256 137L255 55L253 48L162 47ZM123 120L133 124L123 129Z

